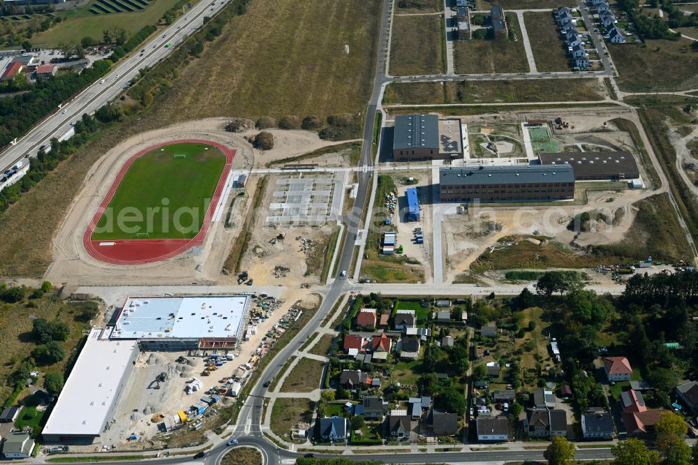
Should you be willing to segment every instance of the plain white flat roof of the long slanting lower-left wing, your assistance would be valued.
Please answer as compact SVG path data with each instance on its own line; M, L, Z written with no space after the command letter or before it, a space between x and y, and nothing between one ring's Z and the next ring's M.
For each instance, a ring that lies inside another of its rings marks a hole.
M102 332L102 328L91 330L43 434L101 434L112 403L119 395L121 376L131 364L138 344L138 341L100 339Z

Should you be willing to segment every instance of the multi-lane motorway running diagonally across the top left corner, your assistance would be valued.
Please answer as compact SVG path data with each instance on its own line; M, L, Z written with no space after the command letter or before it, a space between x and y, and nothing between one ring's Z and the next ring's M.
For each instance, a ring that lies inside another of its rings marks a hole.
M215 3L213 3L215 1ZM158 31L158 36L142 45L143 50L133 50L133 54L122 59L101 81L91 84L73 101L48 117L19 138L15 145L0 154L0 172L20 161L34 157L39 147L50 146L51 138L61 138L70 131L70 122L91 115L98 108L114 100L121 91L138 75L143 68L150 68L167 56L187 36L201 27L205 16L212 17L221 10L228 0L201 0L185 15L179 17L167 29ZM171 43L170 47L165 44Z

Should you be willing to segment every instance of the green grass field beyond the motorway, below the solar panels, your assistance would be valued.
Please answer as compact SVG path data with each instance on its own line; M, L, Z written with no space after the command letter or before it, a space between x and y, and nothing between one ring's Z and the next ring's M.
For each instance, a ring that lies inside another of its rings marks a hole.
M31 44L34 47L56 47L60 43L77 44L83 37L101 40L102 31L110 27L123 27L129 35L138 32L148 24L158 24L158 21L179 0L155 0L142 11L132 13L111 13L109 15L78 15L66 16L63 22L47 31L34 34ZM192 3L197 3L192 1Z

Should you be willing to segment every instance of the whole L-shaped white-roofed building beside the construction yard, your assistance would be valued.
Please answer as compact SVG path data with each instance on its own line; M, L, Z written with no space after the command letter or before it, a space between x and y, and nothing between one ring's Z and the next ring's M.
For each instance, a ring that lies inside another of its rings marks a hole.
M47 443L92 443L109 427L140 350L229 350L249 295L128 297L113 326L91 330L43 429Z

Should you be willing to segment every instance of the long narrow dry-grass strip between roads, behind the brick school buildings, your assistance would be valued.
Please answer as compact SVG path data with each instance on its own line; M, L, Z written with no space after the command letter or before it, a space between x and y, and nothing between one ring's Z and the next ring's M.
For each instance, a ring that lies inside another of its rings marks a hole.
M597 79L397 82L389 84L383 104L531 103L601 101L603 85Z

